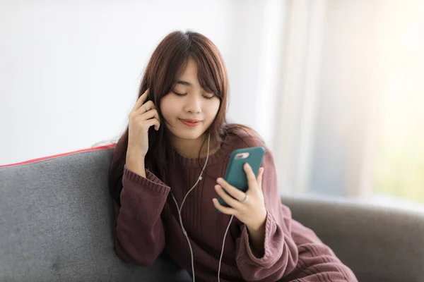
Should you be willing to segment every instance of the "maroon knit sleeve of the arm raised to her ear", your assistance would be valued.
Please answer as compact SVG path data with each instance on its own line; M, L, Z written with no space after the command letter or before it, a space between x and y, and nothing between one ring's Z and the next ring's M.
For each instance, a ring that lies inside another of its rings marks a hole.
M160 214L170 188L146 169L146 178L124 166L121 207L114 201L115 251L124 261L149 266L165 247Z

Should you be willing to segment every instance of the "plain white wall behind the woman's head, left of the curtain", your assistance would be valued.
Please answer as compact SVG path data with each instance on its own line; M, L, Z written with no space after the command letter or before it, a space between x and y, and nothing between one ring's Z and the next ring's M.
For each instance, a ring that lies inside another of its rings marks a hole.
M264 9L275 2L0 2L0 165L116 140L153 49L174 30L218 46L230 78L228 119L271 140L257 104Z

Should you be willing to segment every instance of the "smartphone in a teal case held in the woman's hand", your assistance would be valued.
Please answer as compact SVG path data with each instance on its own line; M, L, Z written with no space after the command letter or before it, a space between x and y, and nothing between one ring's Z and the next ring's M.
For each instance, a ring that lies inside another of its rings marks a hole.
M236 149L231 153L230 162L227 166L227 171L225 171L224 179L230 185L234 186L238 190L242 192L246 192L249 189L249 184L247 182L247 176L243 165L245 163L249 163L250 167L252 167L253 173L257 178L259 168L261 167L262 159L264 158L265 148L264 147L249 147L243 149ZM227 191L224 192L228 194ZM230 197L232 197L230 195ZM224 207L229 207L228 204L218 196L218 202L222 204ZM218 209L216 209L220 212Z

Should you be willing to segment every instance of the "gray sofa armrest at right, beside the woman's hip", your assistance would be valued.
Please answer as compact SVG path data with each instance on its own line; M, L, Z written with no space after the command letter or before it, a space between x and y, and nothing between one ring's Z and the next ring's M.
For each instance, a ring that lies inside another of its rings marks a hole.
M282 195L358 281L424 281L424 208L383 207L338 197Z

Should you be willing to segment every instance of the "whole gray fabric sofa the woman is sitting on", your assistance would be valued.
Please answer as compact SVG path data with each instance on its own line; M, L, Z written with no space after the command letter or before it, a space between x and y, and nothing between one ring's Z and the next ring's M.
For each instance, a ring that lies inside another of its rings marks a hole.
M0 168L0 281L190 281L165 255L148 268L114 253L112 147ZM359 281L424 281L424 212L282 197Z

